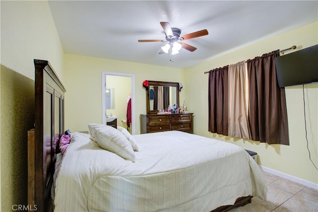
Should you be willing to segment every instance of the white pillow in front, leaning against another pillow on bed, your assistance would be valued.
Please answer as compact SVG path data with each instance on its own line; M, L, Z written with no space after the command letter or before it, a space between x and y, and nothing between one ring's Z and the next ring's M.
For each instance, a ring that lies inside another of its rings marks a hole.
M118 130L108 125L99 124L88 124L88 129L101 148L135 162L133 147Z

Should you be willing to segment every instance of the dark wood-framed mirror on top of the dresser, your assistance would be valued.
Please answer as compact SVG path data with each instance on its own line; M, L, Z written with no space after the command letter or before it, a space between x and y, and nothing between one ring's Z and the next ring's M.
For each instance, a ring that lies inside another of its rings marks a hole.
M179 105L179 83L148 81L147 114L156 114L160 109L167 110L168 106Z

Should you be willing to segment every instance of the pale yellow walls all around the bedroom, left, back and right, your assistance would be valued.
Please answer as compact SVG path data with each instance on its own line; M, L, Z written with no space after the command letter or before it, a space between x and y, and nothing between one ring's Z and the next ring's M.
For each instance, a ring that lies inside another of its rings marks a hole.
M220 55L186 70L63 54L47 1L0 1L0 179L1 211L26 202L26 131L32 128L34 108L33 59L49 60L66 87L66 127L87 131L88 122L101 123L101 71L135 74L136 133L139 114L146 112L145 79L179 81L183 84L180 103L186 100L194 112L194 132L236 143L257 151L260 164L318 183L317 171L309 161L301 86L286 89L290 146L212 135L207 132L207 75L204 71L250 59L292 45L305 48L317 44L317 25L260 40ZM318 84L306 85L309 147L317 164ZM33 118L32 118L33 117ZM316 134L315 134L316 132Z

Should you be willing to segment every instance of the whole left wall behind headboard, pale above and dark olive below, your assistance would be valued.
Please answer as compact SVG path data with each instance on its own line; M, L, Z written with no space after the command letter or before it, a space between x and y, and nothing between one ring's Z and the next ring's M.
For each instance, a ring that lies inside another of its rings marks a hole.
M1 1L0 211L27 204L27 131L34 128L33 59L63 81L63 49L47 1Z

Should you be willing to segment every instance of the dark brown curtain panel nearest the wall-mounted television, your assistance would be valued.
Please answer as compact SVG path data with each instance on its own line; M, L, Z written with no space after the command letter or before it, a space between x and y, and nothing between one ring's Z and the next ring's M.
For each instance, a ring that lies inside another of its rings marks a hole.
M247 61L251 140L289 145L285 89L279 88L275 51Z

